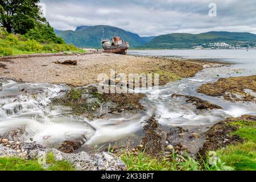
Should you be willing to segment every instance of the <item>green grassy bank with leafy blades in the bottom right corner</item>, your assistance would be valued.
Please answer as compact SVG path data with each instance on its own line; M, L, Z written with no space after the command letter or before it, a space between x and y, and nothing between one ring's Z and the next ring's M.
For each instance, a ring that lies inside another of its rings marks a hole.
M199 156L193 159L188 154L181 156L173 152L156 159L146 155L144 151L124 151L120 156L129 171L255 171L256 122L238 120L226 125L236 126L237 130L229 135L236 135L244 142L207 151L204 158Z

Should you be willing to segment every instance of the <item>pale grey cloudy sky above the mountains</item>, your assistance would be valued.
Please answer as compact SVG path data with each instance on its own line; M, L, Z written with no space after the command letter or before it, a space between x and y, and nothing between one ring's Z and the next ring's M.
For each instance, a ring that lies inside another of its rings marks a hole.
M46 18L56 30L75 30L78 26L101 24L122 28L140 36L177 32L198 34L208 31L256 34L256 0L42 0L40 2L44 3Z

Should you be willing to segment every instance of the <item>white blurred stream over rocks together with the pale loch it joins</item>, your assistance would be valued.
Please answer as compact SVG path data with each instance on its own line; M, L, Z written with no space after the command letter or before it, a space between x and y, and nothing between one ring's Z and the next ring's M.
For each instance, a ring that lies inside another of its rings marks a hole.
M51 105L51 98L69 89L66 85L0 80L0 134L23 128L23 138L27 142L35 141L44 146L58 147L64 140L75 139L84 144L81 150L88 151L110 142L122 145L130 140L139 140L142 122L154 113L160 115L159 122L163 129L182 126L201 132L230 116L256 115L254 103L230 102L223 97L210 97L196 92L200 85L214 82L220 77L256 75L256 50L140 50L129 53L220 60L236 64L205 68L195 77L160 86L157 100L150 99L156 94L154 90L146 93L147 97L141 101L146 113L109 114L106 118L93 121L65 114L70 113L69 108ZM172 98L174 93L196 96L223 109L197 110L194 105L186 103L184 98Z

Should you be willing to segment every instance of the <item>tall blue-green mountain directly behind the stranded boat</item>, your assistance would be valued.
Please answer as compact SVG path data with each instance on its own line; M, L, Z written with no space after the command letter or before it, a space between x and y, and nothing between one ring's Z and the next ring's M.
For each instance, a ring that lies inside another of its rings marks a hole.
M81 26L76 31L55 31L65 42L74 44L77 47L100 48L102 39L102 28L104 29L104 38L120 36L123 40L130 43L131 47L142 46L146 42L138 35L132 32L122 30L111 26Z

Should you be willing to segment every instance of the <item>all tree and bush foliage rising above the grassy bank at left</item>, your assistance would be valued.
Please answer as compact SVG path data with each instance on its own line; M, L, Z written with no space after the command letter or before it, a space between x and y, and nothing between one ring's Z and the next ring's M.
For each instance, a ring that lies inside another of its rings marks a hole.
M64 43L43 17L39 0L1 0L0 25L7 32L26 35L41 43Z

